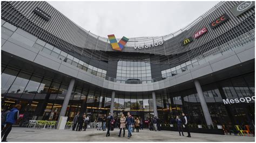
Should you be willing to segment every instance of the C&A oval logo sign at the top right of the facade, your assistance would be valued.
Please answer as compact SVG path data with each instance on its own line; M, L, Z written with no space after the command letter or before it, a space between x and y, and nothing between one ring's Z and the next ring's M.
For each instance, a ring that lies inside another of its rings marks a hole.
M241 2L240 4L235 5L231 9L231 12L233 13L234 16L238 17L242 13L244 13L247 10L251 9L254 5L255 5L255 2L251 2L251 1Z

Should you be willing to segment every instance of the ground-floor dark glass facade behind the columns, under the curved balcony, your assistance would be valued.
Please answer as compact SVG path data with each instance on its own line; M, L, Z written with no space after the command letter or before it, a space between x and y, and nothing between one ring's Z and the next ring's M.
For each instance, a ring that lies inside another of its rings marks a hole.
M2 111L22 104L24 118L21 126L30 119L57 120L69 83L54 78L38 76L9 66L2 66ZM254 101L224 104L223 99L254 96L254 73L201 86L214 126L222 124L249 124L254 120ZM72 120L78 111L91 116L91 121L110 111L111 92L76 83L66 110ZM158 116L165 124L172 123L185 112L191 124L205 125L203 110L195 88L179 92L156 92ZM114 116L121 112L144 119L153 116L152 92L116 91Z

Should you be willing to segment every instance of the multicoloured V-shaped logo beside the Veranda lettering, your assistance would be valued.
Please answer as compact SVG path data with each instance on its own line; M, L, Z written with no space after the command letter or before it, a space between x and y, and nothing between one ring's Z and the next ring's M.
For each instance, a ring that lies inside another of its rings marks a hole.
M115 50L118 50L118 51L122 51L122 49L124 48L127 41L129 41L128 38L123 37L119 42L117 42L117 39L116 39L116 37L114 37L114 34L107 35L107 37L109 37L109 41L110 41L112 48Z

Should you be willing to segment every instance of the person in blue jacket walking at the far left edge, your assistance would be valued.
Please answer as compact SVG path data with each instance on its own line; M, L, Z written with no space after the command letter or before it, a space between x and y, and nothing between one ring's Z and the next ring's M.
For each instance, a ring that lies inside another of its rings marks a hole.
M21 110L21 104L15 105L15 108L12 108L6 116L6 126L1 133L1 137L3 138L2 142L6 141L8 134L11 132L12 125L14 125L16 123L16 120L19 118L19 110Z

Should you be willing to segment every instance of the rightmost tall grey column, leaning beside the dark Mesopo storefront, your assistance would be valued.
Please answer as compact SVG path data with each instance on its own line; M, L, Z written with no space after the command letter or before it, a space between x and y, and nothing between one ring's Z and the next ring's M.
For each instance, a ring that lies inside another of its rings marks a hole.
M207 125L213 125L212 124L212 118L211 118L210 112L208 110L207 104L205 102L205 97L204 97L203 90L201 88L201 85L200 85L199 81L195 80L194 85L196 86L196 89L197 89L197 94L198 94L200 104L201 104L203 112L204 112L206 124Z

